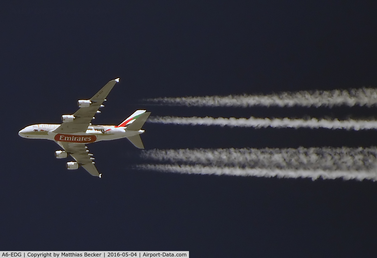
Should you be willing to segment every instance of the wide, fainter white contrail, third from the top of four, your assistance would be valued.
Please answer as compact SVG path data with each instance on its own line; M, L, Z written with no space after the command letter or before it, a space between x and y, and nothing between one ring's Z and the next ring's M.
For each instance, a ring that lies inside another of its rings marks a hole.
M140 155L145 160L162 163L202 164L214 167L377 173L377 147L153 149L145 150Z

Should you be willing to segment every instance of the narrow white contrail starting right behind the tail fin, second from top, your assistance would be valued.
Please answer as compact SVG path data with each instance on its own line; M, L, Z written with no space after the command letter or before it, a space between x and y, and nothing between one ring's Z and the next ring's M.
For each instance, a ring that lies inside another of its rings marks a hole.
M150 123L163 124L190 124L190 125L217 125L217 126L238 126L238 127L274 127L274 128L328 128L328 129L346 129L346 130L365 130L377 129L377 121L374 120L327 120L311 118L291 119L291 118L213 118L213 117L151 117Z

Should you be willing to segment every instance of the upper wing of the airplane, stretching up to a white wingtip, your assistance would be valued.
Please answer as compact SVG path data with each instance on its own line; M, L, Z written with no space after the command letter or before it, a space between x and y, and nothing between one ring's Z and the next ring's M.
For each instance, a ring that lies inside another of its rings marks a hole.
M78 111L73 114L75 119L72 122L62 123L54 132L61 134L73 134L75 132L85 132L88 129L90 121L92 121L94 115L97 113L98 108L114 87L115 83L119 81L119 78L109 81L105 86L100 89L90 101L92 102L89 107L79 108Z

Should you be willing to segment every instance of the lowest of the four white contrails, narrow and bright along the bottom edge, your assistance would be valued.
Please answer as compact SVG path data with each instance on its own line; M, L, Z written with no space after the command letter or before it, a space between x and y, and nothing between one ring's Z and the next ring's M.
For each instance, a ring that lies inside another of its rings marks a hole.
M375 171L352 171L352 170L282 170L282 169L259 169L259 168L241 168L241 167L213 167L202 165L171 165L171 164L144 164L136 165L136 169L157 170L161 172L178 172L184 174L202 174L202 175L236 175L236 176L253 176L253 177L278 177L278 178L311 178L316 180L319 177L323 179L343 178L344 180L363 180L369 179L377 181L377 172Z

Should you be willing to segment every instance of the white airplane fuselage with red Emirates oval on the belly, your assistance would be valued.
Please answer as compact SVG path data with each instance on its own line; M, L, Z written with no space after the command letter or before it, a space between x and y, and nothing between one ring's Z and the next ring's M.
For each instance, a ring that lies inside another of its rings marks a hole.
M69 143L94 143L97 141L115 140L142 134L144 130L130 131L127 127L90 125L85 132L60 134L54 132L60 124L33 124L18 132L24 138L48 139Z

